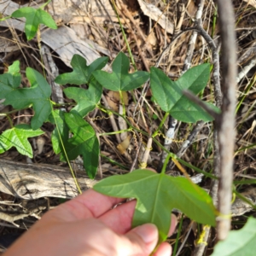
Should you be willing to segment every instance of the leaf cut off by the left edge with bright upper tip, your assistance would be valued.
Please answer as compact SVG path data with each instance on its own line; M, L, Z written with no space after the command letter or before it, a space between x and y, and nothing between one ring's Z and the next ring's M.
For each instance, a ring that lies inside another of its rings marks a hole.
M4 99L12 90L20 86L20 61L9 66L8 72L0 75L0 99Z

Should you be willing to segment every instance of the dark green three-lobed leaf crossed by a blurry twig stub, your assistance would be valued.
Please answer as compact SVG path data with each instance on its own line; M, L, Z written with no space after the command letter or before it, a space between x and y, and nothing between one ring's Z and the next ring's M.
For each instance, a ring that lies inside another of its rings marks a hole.
M212 116L204 109L183 96L183 90L198 94L207 86L210 76L209 67L209 64L193 67L175 82L160 69L151 67L150 84L156 102L164 111L171 113L173 118L183 122L195 123L198 120L212 120ZM218 108L212 104L207 104L218 111Z

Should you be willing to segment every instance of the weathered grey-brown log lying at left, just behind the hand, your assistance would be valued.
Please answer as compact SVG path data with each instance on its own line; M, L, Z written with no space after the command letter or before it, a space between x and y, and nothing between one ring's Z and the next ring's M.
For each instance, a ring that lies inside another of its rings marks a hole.
M75 174L82 191L96 183L85 172ZM26 200L44 196L73 198L79 194L68 168L10 160L0 160L0 191Z

